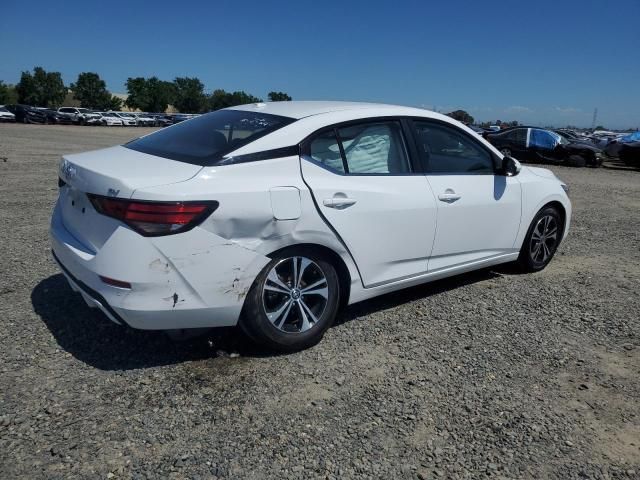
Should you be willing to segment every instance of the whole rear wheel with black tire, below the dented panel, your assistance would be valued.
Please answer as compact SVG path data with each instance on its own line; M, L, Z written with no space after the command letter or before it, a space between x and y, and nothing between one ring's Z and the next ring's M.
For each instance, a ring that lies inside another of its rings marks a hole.
M291 352L317 344L333 324L340 300L338 274L322 255L291 249L256 277L240 317L255 343Z

